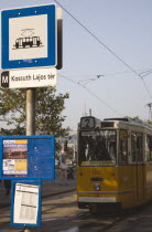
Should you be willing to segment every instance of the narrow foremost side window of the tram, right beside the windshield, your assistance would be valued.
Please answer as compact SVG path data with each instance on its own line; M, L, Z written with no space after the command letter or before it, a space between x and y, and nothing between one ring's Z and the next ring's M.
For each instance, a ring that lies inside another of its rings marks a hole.
M128 133L120 130L119 133L119 162L128 162Z

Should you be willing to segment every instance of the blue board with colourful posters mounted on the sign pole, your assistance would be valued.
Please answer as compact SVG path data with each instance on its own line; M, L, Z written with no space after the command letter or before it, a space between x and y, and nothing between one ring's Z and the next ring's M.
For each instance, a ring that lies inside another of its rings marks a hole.
M0 179L54 180L54 136L1 136Z

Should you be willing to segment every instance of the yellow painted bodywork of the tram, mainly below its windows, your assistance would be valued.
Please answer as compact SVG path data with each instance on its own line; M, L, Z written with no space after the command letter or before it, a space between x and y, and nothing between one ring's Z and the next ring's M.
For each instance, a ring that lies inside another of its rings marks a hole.
M131 131L129 125L126 128L129 133ZM142 133L145 134L145 129L142 129ZM130 143L128 143L128 152L131 152ZM96 186L99 187L98 190L95 189ZM98 204L99 208L111 205L118 209L129 209L150 200L152 200L152 162L106 166L99 161L98 167L77 167L79 208Z

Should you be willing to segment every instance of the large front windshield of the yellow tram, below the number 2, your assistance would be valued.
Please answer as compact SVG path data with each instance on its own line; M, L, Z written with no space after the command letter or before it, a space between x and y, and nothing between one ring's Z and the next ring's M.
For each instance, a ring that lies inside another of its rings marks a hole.
M115 166L117 157L116 130L80 131L79 166Z

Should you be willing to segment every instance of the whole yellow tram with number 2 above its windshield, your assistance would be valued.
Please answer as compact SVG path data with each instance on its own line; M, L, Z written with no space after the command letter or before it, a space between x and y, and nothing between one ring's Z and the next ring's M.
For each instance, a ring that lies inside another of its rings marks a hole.
M152 200L152 126L141 120L82 117L77 202L91 212Z

